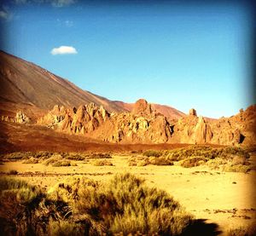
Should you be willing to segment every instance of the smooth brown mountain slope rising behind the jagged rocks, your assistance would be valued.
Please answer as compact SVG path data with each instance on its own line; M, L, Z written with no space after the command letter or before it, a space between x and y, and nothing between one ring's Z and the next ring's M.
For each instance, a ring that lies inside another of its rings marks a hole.
M90 102L104 106L108 112L130 112L133 107L80 89L67 79L3 51L0 51L0 81L0 112L3 115L14 115L18 110L42 112L55 105L73 107ZM170 106L155 105L154 109L170 118L184 116Z

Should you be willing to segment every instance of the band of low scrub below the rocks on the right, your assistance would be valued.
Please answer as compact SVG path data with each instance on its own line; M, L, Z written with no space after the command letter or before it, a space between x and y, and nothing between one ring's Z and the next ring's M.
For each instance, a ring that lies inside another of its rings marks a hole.
M246 173L251 170L247 161L249 157L240 147L191 146L166 151L148 150L143 155L129 158L128 165L172 165L173 162L178 162L185 168L207 164L215 170Z

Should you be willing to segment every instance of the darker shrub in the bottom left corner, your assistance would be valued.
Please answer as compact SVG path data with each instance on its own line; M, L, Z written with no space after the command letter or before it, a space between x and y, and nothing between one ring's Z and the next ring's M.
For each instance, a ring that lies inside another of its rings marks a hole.
M0 179L1 235L53 235L49 219L69 216L70 208L51 201L39 189L14 177Z

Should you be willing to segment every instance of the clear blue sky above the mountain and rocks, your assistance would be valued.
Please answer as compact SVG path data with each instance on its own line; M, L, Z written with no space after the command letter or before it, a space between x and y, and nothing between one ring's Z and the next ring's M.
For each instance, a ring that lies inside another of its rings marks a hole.
M16 0L0 23L1 49L110 100L212 118L255 102L249 4Z

